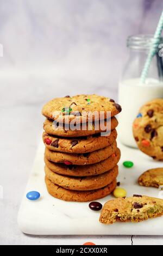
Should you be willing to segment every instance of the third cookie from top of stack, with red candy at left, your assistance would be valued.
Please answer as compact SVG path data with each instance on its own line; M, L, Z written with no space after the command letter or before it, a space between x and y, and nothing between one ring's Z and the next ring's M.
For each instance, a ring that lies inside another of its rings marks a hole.
M117 138L117 131L114 129L108 136L101 136L99 133L82 138L62 138L48 135L43 132L42 139L45 147L52 151L65 153L90 153L111 145Z

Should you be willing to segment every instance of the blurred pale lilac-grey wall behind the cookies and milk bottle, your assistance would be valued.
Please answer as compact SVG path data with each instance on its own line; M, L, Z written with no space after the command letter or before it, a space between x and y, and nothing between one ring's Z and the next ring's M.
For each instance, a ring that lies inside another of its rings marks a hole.
M163 8L162 0L1 0L0 5L1 72L79 78L90 82L88 91L93 84L117 87L127 36L154 33Z

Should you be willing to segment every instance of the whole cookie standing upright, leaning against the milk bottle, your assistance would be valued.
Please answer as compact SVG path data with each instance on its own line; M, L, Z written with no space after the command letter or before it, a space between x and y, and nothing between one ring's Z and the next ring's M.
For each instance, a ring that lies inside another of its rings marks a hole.
M140 108L133 123L133 134L143 153L163 160L163 99L149 101Z

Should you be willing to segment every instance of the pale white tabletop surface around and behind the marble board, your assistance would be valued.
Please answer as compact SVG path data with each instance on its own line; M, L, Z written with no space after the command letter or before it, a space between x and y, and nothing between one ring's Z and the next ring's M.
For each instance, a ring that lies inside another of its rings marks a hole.
M162 236L32 236L24 235L17 226L17 212L34 161L43 118L41 107L59 95L98 93L116 99L116 92L107 85L89 81L63 80L30 76L0 77L1 172L0 244L1 245L163 245ZM54 82L55 81L55 82ZM71 84L77 83L74 90Z

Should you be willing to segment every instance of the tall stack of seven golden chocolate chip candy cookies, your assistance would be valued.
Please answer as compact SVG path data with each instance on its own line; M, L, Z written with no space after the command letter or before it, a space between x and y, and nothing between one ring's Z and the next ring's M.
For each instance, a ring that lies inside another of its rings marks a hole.
M90 118L95 111L98 118ZM106 120L108 112L110 119ZM97 95L65 96L43 106L42 114L47 118L43 142L49 194L66 201L87 202L115 189L121 155L116 143L115 115L120 112L121 106L114 100ZM101 113L105 121L97 130ZM71 129L72 123L76 129ZM108 131L107 125L110 131L102 136Z

